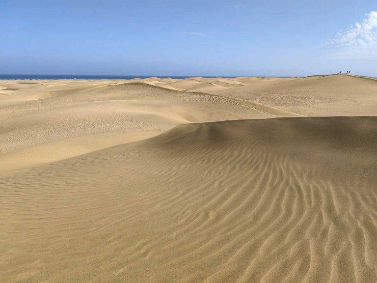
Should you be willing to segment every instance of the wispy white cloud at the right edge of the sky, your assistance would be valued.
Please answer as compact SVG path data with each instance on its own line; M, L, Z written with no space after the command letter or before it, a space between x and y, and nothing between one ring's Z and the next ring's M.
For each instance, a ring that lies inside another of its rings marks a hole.
M377 48L377 12L371 11L366 16L361 23L338 32L332 43L346 49Z

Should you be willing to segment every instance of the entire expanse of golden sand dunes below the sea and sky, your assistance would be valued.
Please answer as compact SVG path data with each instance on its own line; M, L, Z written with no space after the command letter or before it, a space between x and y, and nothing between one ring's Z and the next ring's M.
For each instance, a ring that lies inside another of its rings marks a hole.
M377 281L376 80L0 85L1 282Z

